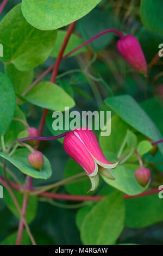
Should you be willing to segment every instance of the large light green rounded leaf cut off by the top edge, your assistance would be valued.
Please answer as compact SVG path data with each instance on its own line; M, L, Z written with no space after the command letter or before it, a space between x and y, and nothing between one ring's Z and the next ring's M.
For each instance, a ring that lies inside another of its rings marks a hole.
M99 2L101 0L23 0L22 13L30 25L42 30L52 30L79 20Z

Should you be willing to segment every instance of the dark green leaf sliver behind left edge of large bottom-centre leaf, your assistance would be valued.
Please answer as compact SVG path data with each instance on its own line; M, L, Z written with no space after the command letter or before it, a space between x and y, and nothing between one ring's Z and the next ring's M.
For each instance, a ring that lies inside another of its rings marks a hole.
M86 205L82 208L80 208L76 214L76 224L78 229L80 230L82 228L82 224L84 221L84 218L86 217L87 214L92 210L93 204Z

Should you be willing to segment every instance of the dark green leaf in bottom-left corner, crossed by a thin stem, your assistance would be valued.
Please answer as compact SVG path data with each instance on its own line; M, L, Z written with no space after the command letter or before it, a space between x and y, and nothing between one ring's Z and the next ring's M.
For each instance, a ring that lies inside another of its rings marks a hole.
M7 236L0 245L16 245L17 232ZM31 245L26 229L23 230L21 245Z

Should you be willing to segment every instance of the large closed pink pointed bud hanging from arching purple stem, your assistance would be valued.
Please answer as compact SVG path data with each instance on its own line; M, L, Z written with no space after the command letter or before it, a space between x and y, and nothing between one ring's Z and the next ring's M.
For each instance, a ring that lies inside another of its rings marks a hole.
M123 36L117 42L118 52L141 74L147 74L147 62L139 41L133 35Z

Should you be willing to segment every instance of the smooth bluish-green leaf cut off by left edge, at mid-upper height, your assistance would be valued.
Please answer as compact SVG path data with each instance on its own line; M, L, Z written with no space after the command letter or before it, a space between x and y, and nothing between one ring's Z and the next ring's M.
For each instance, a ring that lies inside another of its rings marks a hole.
M7 75L0 72L0 135L3 135L14 117L16 96Z

